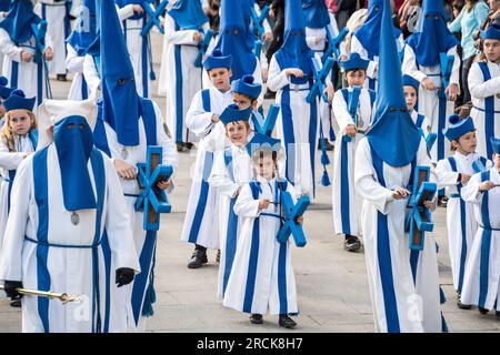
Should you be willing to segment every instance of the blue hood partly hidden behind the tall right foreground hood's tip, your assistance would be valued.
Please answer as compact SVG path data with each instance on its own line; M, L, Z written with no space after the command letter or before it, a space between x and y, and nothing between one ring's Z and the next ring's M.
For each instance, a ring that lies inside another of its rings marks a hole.
M389 6L389 4L388 4ZM368 16L363 26L361 26L354 36L367 50L368 55L379 55L380 27L382 23L382 11L386 7L386 0L370 0L368 3ZM392 26L392 36L399 38L401 31Z

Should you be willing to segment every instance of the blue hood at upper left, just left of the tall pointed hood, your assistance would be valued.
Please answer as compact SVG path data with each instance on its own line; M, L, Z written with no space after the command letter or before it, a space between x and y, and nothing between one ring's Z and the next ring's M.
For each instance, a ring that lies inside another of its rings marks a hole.
M87 50L96 41L96 0L83 0L77 19L77 27L68 37L67 42L81 57L87 53Z

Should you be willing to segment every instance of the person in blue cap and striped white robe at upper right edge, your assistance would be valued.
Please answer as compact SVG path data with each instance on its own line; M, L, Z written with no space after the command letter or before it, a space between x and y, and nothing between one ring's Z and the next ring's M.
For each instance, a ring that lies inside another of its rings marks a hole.
M478 129L478 153L489 159L490 138L500 136L500 27L491 24L481 39L486 59L474 62L469 72L470 116Z

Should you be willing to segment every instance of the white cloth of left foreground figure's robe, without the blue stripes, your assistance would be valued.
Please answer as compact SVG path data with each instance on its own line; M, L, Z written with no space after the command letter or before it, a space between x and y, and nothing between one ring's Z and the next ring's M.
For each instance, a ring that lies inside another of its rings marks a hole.
M58 153L52 144L47 156L47 194L48 200L48 235L47 240L60 245L92 245L96 232L96 210L80 210L80 222L71 222L72 212L64 210L61 174ZM104 155L104 154L102 154ZM88 163L89 175L96 194L92 164ZM113 165L103 156L106 192L101 217L100 235L104 229L109 246L114 257L114 268L110 275L110 284L114 285L114 270L130 267L140 272L137 251L130 232L129 213L126 209L123 192ZM38 239L39 213L33 182L33 155L28 156L20 165L12 187L12 207L7 223L3 250L0 257L0 280L22 281L26 288L38 290L38 265L43 258L38 257L38 244L24 240ZM42 210L43 211L43 210ZM41 252L43 254L43 247ZM106 272L102 246L99 246L99 281L101 300L101 318L104 322L106 310ZM92 250L76 247L48 247L47 268L50 275L50 291L71 295L81 295L81 303L63 305L59 300L49 302L48 311L40 307L41 297L24 296L22 298L22 332L28 333L89 333L92 323ZM123 286L126 287L126 286ZM47 300L47 298L44 298ZM131 314L130 304L122 300L111 298L110 332L126 332L127 321ZM40 314L47 314L48 326L44 328Z

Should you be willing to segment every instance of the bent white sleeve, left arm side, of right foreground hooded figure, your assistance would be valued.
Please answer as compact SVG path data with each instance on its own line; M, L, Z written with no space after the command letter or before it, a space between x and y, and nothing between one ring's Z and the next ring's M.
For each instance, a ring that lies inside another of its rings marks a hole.
M377 173L370 154L370 145L364 138L359 142L354 161L354 186L359 195L370 202L380 213L388 214L392 205L392 191L383 187L377 180Z

